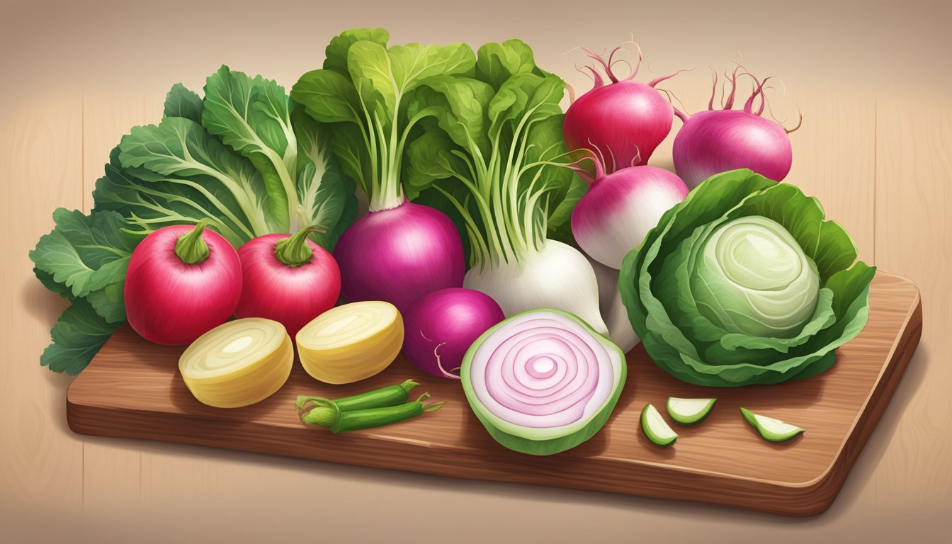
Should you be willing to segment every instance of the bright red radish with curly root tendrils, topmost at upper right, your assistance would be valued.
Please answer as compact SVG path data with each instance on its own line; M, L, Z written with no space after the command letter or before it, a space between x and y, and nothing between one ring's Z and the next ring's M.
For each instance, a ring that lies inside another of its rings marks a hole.
M622 48L612 50L608 60L583 49L602 65L611 83L605 85L598 71L585 67L591 71L595 87L565 111L565 145L570 151L587 149L597 153L607 173L646 164L674 122L674 109L654 87L675 74L647 84L632 81L642 64L639 49L638 61L631 73L619 79L612 67L623 62L614 60L615 53Z

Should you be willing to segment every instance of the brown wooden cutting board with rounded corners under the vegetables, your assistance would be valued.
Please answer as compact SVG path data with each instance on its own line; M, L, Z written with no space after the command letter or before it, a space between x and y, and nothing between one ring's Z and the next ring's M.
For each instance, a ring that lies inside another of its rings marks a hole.
M76 433L125 436L275 453L367 467L460 478L718 503L776 514L823 512L883 414L922 335L919 291L879 272L869 323L843 346L833 369L777 386L711 389L659 370L641 346L628 353L625 392L605 429L564 453L510 452L470 413L459 382L417 372L403 356L386 371L344 386L317 382L295 363L288 383L267 400L223 410L195 400L178 374L181 348L156 346L128 327L116 332L69 386L67 414ZM414 378L446 407L378 429L332 434L306 428L298 394L346 396ZM714 412L669 449L641 432L645 403L668 395L717 397ZM741 417L744 406L799 425L783 444L761 439ZM209 454L213 454L209 452Z

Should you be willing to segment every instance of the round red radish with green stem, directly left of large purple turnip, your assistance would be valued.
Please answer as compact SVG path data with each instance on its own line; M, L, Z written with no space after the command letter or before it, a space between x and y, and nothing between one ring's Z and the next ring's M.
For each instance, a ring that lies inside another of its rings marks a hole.
M266 234L238 250L245 281L237 317L273 319L293 338L311 319L334 307L341 272L327 250L307 239L319 231L310 226L292 236Z

